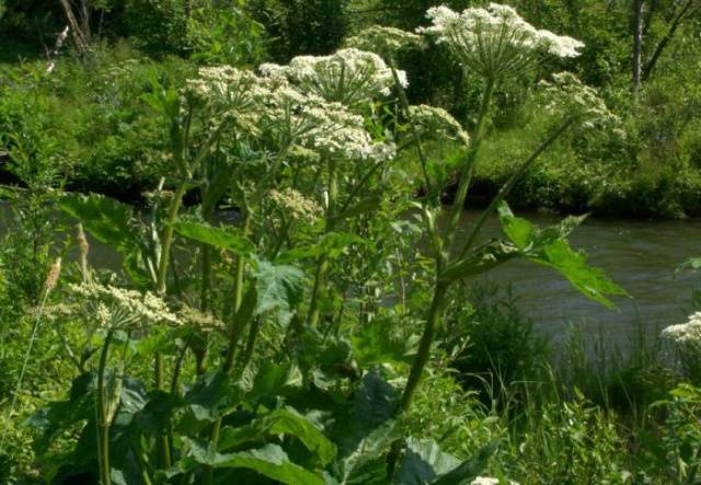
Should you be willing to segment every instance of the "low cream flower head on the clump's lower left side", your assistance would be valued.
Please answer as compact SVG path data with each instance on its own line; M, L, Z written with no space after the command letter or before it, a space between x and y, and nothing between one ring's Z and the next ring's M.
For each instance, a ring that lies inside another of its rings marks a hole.
M156 295L112 285L82 282L69 285L71 291L93 304L92 315L102 326L115 324L180 324L177 316Z

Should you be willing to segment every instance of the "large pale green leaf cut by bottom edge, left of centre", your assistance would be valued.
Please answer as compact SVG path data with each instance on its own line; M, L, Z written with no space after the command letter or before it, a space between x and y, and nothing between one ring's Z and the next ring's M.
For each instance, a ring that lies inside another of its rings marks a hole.
M180 463L184 471L202 464L214 469L249 469L288 485L325 484L321 476L292 463L277 444L238 453L217 453L189 438L183 438L183 442L188 446L191 453Z

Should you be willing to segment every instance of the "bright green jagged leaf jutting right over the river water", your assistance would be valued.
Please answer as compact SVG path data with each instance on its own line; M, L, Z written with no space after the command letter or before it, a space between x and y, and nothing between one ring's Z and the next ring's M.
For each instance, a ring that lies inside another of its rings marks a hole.
M515 217L503 203L499 220L502 229L524 256L556 269L584 296L608 308L614 308L608 297L628 296L604 270L588 266L585 253L570 247L565 238L584 218L567 218L558 226L541 230L526 219Z

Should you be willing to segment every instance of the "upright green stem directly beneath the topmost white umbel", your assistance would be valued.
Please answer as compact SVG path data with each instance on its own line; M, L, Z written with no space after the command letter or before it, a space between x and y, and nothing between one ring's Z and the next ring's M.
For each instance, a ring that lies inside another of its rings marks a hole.
M452 213L450 216L450 220L448 221L448 226L446 227L444 247L448 252L450 252L452 247L456 230L458 229L458 223L460 222L460 216L464 209L464 201L468 197L468 189L470 188L474 163L478 159L480 145L482 143L482 139L484 138L484 124L490 111L493 92L494 81L492 79L487 79L484 92L482 93L482 103L480 105L480 113L478 114L478 123L472 136L472 147L470 148L466 162L460 170L458 190L456 192L456 198L452 203Z

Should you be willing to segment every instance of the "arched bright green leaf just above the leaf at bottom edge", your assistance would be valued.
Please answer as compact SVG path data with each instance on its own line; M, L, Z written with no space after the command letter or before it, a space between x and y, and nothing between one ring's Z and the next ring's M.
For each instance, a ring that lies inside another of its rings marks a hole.
M329 441L312 422L291 407L275 409L255 418L248 426L225 428L221 431L219 450L226 451L269 435L290 435L298 438L309 451L319 457L322 465L326 465L336 455L335 444Z

